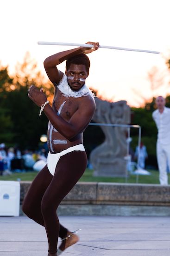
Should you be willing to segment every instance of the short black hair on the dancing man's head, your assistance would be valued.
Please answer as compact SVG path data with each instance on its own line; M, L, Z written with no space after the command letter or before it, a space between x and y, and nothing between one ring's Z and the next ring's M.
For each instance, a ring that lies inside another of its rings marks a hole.
M71 64L84 65L86 67L87 72L89 72L90 61L86 54L78 54L67 59L66 70L69 69Z

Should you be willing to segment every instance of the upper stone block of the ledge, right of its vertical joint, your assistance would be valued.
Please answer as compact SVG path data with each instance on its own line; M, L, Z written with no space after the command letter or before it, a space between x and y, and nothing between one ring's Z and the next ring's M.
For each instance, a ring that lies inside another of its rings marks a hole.
M97 201L124 205L170 205L170 186L98 183Z

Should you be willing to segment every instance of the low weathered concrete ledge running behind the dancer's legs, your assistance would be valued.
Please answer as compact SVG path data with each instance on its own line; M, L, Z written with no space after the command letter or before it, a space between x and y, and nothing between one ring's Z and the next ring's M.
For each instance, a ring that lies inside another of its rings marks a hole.
M22 204L31 182L20 185ZM170 216L169 206L170 186L78 182L57 211L60 215Z

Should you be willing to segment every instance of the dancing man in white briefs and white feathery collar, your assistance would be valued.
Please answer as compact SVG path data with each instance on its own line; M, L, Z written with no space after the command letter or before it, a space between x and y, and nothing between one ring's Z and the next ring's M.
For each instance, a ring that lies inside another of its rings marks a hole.
M58 256L78 241L78 236L64 228L57 217L57 207L75 186L87 166L82 132L91 121L94 95L86 87L90 62L86 54L98 49L79 47L54 54L44 61L45 71L55 87L52 107L42 89L29 88L28 96L49 119L47 165L38 173L23 202L23 211L46 229L49 253ZM65 74L57 65L66 60ZM57 250L58 236L62 243Z

